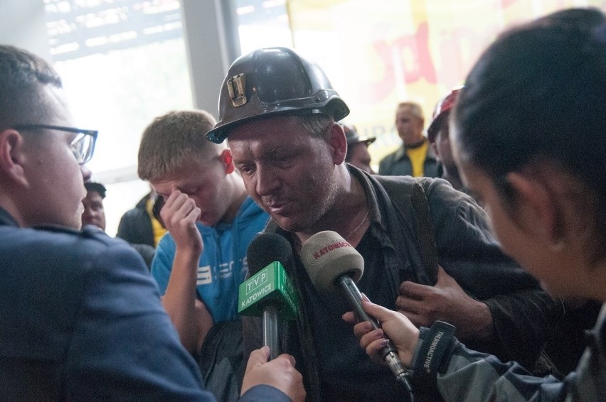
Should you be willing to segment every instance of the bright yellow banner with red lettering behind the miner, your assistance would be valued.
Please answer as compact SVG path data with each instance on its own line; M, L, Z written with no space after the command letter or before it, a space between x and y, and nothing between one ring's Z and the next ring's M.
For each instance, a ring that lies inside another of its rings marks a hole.
M373 163L400 146L398 102L435 103L462 85L482 50L505 28L574 0L289 0L294 47L316 60L351 109L344 121L376 136Z

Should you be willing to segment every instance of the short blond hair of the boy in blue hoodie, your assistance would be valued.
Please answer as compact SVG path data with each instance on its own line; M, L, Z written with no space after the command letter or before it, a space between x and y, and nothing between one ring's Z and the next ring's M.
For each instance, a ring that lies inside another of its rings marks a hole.
M203 110L172 111L156 117L143 131L139 145L139 178L165 179L193 159L211 161L227 148L204 136L215 124L215 118Z

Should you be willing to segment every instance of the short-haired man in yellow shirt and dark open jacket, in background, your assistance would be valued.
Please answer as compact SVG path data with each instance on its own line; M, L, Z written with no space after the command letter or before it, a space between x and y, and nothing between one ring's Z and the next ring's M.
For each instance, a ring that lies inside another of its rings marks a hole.
M423 111L420 104L402 102L395 109L395 128L402 146L379 162L380 175L409 175L439 178L440 163L427 138L423 136Z

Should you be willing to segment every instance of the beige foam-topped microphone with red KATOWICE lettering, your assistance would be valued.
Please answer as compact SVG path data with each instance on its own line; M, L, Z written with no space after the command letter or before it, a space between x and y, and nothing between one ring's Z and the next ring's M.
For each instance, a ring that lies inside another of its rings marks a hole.
M378 322L362 308L362 295L356 282L362 277L364 259L340 234L325 230L309 237L301 248L301 259L314 287L321 293L341 290L360 321L370 321L373 330ZM412 391L408 381L408 369L404 366L398 350L390 341L381 349L383 359L398 381L407 391Z

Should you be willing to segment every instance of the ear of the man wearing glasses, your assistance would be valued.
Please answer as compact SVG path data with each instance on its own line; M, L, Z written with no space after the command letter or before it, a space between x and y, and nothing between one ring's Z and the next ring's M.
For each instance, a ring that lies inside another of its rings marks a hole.
M6 129L0 132L0 173L13 183L28 185L23 162L23 137L18 131Z

